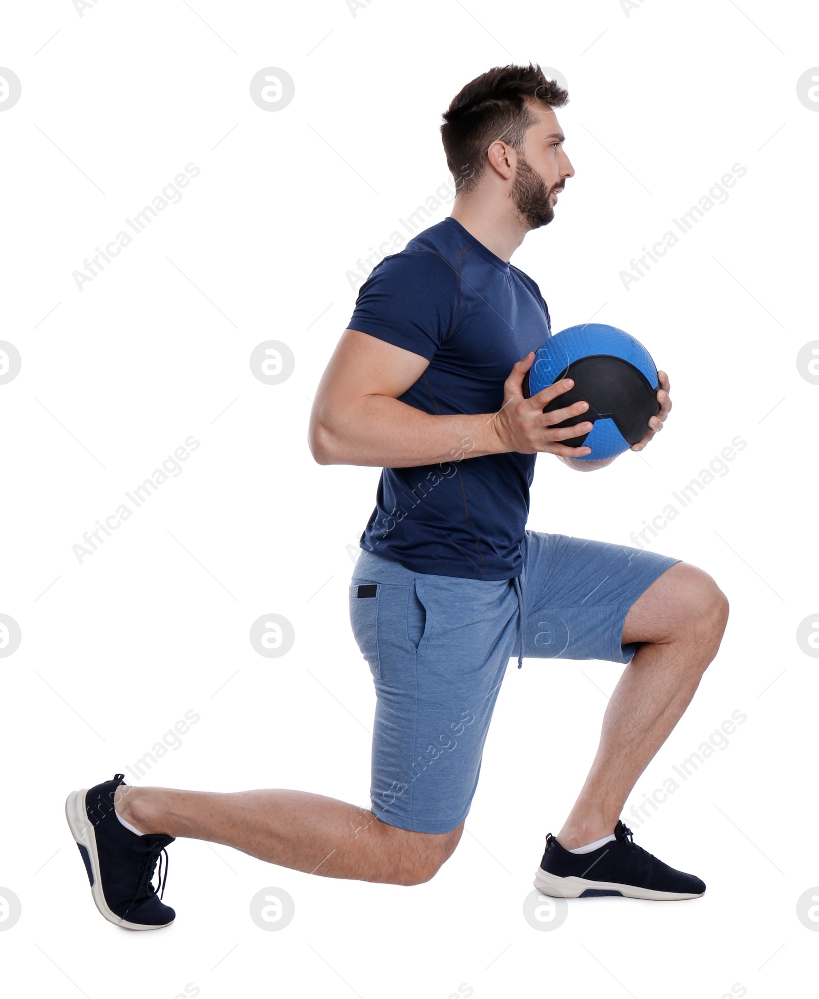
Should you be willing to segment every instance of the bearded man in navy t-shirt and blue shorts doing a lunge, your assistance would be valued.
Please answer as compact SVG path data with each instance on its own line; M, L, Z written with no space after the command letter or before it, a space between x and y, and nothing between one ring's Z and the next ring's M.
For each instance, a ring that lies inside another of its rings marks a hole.
M121 774L77 791L69 823L111 921L173 921L151 880L176 836L328 877L428 880L460 838L513 655L627 663L535 886L564 897L704 892L637 846L619 814L716 654L727 600L678 559L525 529L537 454L580 471L609 464L561 443L591 429L556 429L586 404L543 413L570 380L521 392L551 331L537 285L508 261L551 222L573 176L553 110L566 100L532 65L490 70L454 98L441 126L452 214L376 267L317 394L317 462L383 467L350 591L378 695L372 810L302 791L127 787ZM660 373L659 414L632 450L662 428L668 391Z

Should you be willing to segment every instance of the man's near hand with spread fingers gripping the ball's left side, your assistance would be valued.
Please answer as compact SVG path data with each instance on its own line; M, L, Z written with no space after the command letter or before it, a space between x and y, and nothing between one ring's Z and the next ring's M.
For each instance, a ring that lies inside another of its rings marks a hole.
M587 403L573 403L562 410L543 413L543 407L574 385L571 379L561 379L529 399L523 398L523 376L534 363L534 352L530 352L512 368L503 384L503 406L492 417L492 426L502 451L514 451L520 455L534 455L546 452L560 458L583 458L591 454L591 449L568 448L561 442L587 434L593 424L581 423L573 427L556 429L569 417L585 413Z

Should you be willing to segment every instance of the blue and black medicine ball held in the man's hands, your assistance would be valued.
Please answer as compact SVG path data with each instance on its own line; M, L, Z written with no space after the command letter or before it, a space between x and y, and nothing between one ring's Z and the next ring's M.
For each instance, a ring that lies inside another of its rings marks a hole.
M587 323L549 337L523 378L523 396L528 399L564 378L572 379L573 387L543 407L543 413L581 400L588 403L585 413L555 425L594 425L587 434L561 442L569 448L591 448L580 462L627 451L645 437L649 419L659 412L659 379L651 355L616 327Z

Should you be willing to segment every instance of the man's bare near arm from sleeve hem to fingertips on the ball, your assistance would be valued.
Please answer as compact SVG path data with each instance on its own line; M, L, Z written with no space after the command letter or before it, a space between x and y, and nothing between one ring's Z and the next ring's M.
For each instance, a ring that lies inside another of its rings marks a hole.
M523 399L523 375L533 360L529 354L514 366L497 413L430 416L398 398L426 370L425 358L358 330L346 330L316 393L310 450L320 465L394 469L505 452L587 455L588 448L560 444L576 436L577 428L551 429L552 424L582 413L585 404L542 413L543 406L570 383Z

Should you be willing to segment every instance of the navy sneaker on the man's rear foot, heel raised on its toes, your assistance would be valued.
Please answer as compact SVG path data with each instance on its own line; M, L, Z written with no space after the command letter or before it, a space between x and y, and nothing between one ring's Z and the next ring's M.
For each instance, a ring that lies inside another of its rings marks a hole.
M176 912L160 901L165 892L162 878L162 854L165 853L165 878L168 877L168 853L165 847L173 836L131 832L114 813L114 793L124 784L124 775L97 784L91 790L72 791L66 799L65 813L71 835L83 858L91 894L105 918L128 930L157 930L170 926ZM154 871L160 862L162 892L153 885Z

